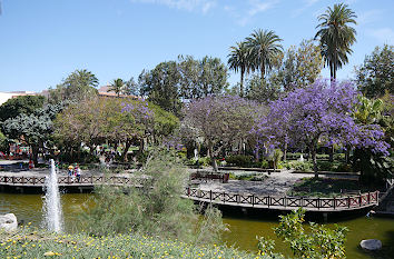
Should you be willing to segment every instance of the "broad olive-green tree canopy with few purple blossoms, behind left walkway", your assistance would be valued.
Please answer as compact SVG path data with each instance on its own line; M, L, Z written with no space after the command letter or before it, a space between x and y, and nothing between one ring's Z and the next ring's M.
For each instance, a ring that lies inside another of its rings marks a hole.
M83 142L95 150L105 141L125 143L121 159L132 143L148 136L159 141L178 126L178 119L158 106L132 98L91 98L68 107L56 120L60 146L77 147ZM140 150L141 152L142 150Z

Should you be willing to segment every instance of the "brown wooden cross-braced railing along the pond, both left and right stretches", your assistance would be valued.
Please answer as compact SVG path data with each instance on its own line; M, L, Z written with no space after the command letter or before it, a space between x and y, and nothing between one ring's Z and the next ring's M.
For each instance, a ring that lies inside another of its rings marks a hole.
M142 186L147 179L121 176L82 176L79 180L68 176L59 176L59 187L77 187L92 189L96 185ZM9 177L0 176L0 187L10 186L43 187L46 177ZM232 206L239 208L294 210L298 207L307 211L336 212L351 211L375 207L380 201L380 192L366 192L347 197L315 198L315 197L279 197L256 196L253 193L233 193L198 188L185 188L181 196L196 202Z

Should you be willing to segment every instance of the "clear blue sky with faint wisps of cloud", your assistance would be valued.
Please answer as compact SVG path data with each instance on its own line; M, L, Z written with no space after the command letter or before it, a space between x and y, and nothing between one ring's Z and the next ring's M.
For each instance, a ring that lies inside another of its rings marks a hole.
M256 29L287 49L316 33L324 0L0 0L0 91L41 91L76 69L100 86L138 78L179 54L218 57ZM394 44L394 1L344 1L357 14L357 42L339 79L354 78L376 46ZM328 77L324 69L323 77ZM235 84L239 74L230 72Z

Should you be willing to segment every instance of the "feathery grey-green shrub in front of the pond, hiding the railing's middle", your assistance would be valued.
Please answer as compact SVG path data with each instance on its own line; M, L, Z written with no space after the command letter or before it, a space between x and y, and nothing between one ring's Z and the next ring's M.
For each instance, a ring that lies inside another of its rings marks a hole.
M135 176L145 179L141 187L130 187L127 193L121 188L97 189L96 206L82 215L82 228L99 236L132 231L194 243L217 241L225 227L220 212L208 208L198 218L193 201L180 197L187 176L176 157L154 151Z

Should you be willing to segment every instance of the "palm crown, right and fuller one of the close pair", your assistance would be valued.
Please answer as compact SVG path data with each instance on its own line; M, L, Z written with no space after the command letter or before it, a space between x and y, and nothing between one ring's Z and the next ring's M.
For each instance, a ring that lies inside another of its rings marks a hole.
M246 44L250 52L250 60L253 62L252 69L259 69L262 71L262 79L268 72L275 58L283 53L283 47L278 42L282 39L272 30L255 30L250 37L246 38Z

